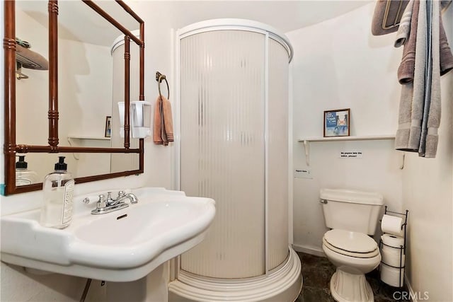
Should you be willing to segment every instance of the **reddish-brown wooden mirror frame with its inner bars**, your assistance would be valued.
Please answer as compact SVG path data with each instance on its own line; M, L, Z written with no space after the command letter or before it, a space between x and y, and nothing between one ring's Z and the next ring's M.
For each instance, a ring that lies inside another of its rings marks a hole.
M4 194L17 194L42 190L42 183L16 187L16 153L138 153L139 169L118 173L75 178L76 183L117 178L143 173L144 139L139 139L139 148L130 149L130 40L139 45L139 100L144 100L144 21L121 0L115 0L139 23L139 38L122 26L93 1L82 0L93 11L125 34L125 144L124 148L96 148L58 146L58 1L50 0L49 12L49 137L48 146L16 144L16 2L4 1Z

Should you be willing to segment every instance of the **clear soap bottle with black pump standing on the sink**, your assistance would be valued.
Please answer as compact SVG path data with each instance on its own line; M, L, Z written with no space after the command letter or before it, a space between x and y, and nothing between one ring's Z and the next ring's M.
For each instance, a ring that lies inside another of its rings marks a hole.
M72 219L74 178L67 171L64 156L59 156L53 173L47 174L42 184L44 205L40 223L50 228L66 228Z

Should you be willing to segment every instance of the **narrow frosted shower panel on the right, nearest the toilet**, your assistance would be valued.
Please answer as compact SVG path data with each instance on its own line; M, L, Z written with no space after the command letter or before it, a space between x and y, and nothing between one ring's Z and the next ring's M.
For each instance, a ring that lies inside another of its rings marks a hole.
M268 43L268 269L289 254L288 228L288 53Z

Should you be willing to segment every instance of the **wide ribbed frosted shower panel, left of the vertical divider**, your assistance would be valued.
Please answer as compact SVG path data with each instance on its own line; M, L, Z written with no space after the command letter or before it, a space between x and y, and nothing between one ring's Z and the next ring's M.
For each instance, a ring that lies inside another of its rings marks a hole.
M180 40L180 190L211 197L207 238L180 268L217 278L265 273L265 35Z

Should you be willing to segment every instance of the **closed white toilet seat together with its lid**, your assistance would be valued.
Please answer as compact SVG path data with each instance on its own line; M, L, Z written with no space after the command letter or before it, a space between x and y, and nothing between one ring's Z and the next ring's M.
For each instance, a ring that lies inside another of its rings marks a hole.
M371 258L379 255L376 241L363 233L333 229L324 234L323 245L350 257Z

